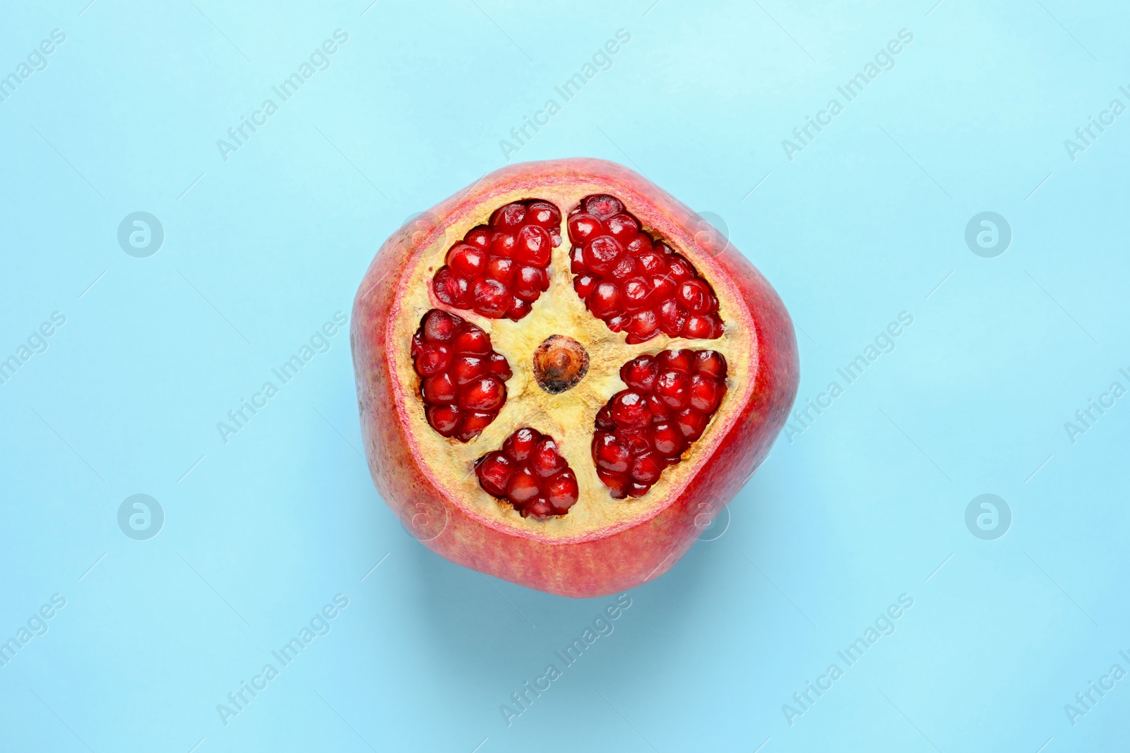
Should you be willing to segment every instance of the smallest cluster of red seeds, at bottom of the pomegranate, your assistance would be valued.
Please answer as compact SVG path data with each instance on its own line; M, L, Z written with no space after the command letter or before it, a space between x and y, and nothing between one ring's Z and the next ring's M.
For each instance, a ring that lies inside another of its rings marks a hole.
M580 496L576 475L553 437L529 427L507 437L501 450L479 458L475 472L484 491L522 517L565 515Z

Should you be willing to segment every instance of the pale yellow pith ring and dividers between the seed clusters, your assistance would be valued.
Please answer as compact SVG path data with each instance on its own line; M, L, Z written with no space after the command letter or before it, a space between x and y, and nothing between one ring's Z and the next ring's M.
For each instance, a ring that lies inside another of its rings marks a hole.
M709 455L724 434L729 406L745 402L755 376L751 373L754 359L750 354L756 343L745 301L737 297L725 274L709 255L693 243L649 227L645 213L641 211L643 208L634 207L628 196L618 195L625 202L627 211L641 220L643 229L651 233L652 237L667 240L711 283L719 299L719 313L725 323L724 334L715 340L686 340L660 333L645 343L628 345L625 343L624 332L611 332L603 322L585 309L584 301L573 290L568 259L571 244L565 225L570 210L583 196L602 192L616 195L607 186L577 183L572 183L567 190L559 185L547 185L495 194L463 217L451 218L451 225L445 230L441 228L433 234L431 240L416 249L400 279L385 282L397 286L400 291L389 331L390 343L403 344L402 348L390 349L389 353L392 361L390 370L398 382L397 409L411 423L410 432L418 443L423 462L436 483L447 491L449 499L470 505L487 522L512 528L518 534L536 532L541 536L567 540L594 532L611 532L650 517L664 499L677 492L693 475L699 458ZM549 268L550 286L533 303L531 313L518 322L511 322L505 318L486 318L470 310L441 304L432 291L432 278L443 265L452 243L462 238L476 225L486 224L498 207L522 199L550 201L563 214L562 244L554 249ZM492 347L506 357L514 373L506 382L506 404L498 417L481 435L468 443L440 436L428 426L424 415L419 377L412 369L409 343L419 327L420 318L432 308L451 312L483 327L490 335ZM532 368L534 349L553 334L573 338L588 350L591 359L588 375L575 387L558 395L550 395L537 385ZM597 411L616 392L626 387L619 378L623 364L641 353L658 353L676 348L710 349L722 353L729 365L728 393L706 431L684 453L681 463L663 471L660 480L644 497L612 499L608 488L597 476L592 462L591 443ZM475 461L498 449L511 432L525 426L551 436L557 441L558 452L576 474L580 498L567 515L546 519L522 518L512 507L499 504L479 487L475 475Z

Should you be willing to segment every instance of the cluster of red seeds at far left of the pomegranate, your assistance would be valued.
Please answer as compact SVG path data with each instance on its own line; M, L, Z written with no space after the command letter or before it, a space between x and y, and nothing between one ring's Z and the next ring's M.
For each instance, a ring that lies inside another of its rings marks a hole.
M469 441L506 402L510 364L490 338L466 319L432 309L412 335L412 367L428 424L444 437Z

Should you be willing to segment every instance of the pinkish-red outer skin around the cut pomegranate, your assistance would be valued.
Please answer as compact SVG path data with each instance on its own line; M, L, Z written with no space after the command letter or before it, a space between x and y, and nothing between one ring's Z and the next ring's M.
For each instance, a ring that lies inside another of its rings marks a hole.
M470 191L441 202L431 212L443 219L470 217L494 196L515 190L538 196L544 193L539 189L547 184L571 182L597 184L598 190L586 193L612 194L653 235L673 239L684 247L694 246L699 228L690 224L692 210L646 178L600 159L511 165L486 176ZM571 208L560 209L567 213ZM714 259L737 294L731 305L744 304L748 309L746 316L753 321L756 341L751 356L755 364L750 367L755 377L747 389L727 394L725 402L730 404L723 405L715 417L723 426L720 440L713 443L713 454L701 462L684 464L693 475L673 485L670 497L643 519L568 540L555 539L537 526L514 529L477 514L444 491L436 471L420 463L414 449L415 434L432 429L410 424L400 406L406 400L418 399L405 394L403 386L392 378L392 359L385 352L409 348L407 342L389 342L391 322L405 314L397 298L399 286L388 280L395 280L407 260L438 237L438 229L428 226L427 237L417 234L416 240L420 243L414 242L412 231L417 229L401 228L381 247L358 289L350 325L365 452L381 497L409 531L421 532L419 537L432 551L530 588L586 598L619 593L666 572L695 542L702 532L702 520L713 518L745 485L788 419L797 394L799 362L792 321L776 291L736 249ZM699 270L715 288L724 284L719 271L702 266ZM742 324L748 326L748 319ZM703 341L695 347L710 344ZM668 473L677 470L678 466Z

